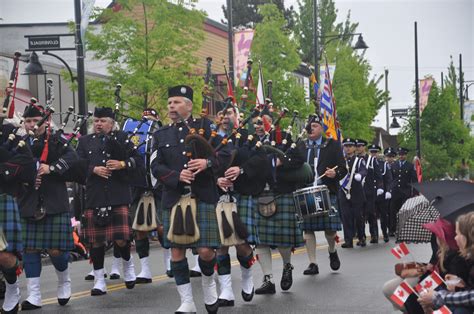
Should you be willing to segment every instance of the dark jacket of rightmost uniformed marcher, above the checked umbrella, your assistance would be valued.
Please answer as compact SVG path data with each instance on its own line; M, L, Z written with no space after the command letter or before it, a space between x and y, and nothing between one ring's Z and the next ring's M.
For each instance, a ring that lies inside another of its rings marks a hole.
M416 171L409 161L395 161L392 164L392 198L410 198L413 196L413 188L410 183L417 182Z

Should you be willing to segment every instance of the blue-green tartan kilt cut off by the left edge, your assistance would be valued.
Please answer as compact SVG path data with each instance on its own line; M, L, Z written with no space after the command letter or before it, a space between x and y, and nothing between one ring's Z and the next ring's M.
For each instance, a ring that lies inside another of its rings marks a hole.
M21 221L15 199L7 194L0 194L0 228L7 240L6 252L23 251Z

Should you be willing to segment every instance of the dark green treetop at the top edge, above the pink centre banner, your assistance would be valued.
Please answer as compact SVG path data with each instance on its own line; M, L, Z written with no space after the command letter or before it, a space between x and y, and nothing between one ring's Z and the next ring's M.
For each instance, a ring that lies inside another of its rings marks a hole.
M293 6L285 8L283 0L234 0L232 2L232 24L234 27L255 25L262 22L262 15L258 7L263 4L273 3L286 19L285 28L292 29L295 23L295 11ZM227 6L222 5L222 11L226 21L228 20ZM223 23L225 21L222 21Z

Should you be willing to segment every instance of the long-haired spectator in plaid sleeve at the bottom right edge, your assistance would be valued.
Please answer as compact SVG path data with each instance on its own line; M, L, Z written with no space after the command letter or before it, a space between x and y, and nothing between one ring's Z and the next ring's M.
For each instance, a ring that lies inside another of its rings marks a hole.
M458 218L455 240L468 265L467 278L446 275L447 290L422 294L418 302L427 313L443 306L456 314L474 312L474 212Z

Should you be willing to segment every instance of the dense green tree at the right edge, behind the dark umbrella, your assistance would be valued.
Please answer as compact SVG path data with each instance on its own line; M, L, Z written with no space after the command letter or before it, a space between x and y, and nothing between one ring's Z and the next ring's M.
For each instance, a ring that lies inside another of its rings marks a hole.
M459 115L456 75L451 62L444 89L433 82L428 105L420 118L424 179L439 179L446 174L455 176L462 159L472 160L473 140ZM415 135L415 117L411 116L400 134L402 145L411 150L411 156L416 154Z

